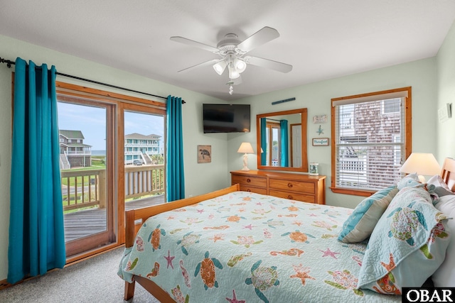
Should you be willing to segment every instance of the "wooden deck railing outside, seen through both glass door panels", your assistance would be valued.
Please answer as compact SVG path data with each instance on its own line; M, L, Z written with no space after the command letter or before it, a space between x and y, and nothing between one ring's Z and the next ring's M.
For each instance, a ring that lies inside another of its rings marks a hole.
M106 170L61 172L63 211L106 206ZM164 193L164 165L125 167L125 199Z

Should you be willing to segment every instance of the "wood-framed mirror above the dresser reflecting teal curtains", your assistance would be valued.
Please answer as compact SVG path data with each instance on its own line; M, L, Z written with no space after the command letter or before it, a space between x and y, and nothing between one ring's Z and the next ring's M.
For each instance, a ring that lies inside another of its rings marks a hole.
M257 169L308 172L306 109L256 116Z

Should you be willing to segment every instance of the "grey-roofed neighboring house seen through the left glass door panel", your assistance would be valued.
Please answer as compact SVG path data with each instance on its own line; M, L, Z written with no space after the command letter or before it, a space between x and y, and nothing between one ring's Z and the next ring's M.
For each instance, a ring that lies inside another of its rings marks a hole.
M60 142L60 169L92 165L92 145L84 144L82 131L58 131Z

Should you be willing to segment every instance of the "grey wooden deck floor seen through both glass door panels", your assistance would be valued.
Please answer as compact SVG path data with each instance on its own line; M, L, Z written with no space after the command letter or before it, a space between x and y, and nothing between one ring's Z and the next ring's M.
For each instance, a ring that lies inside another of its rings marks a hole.
M125 203L125 210L164 203L164 194ZM106 209L87 209L65 214L65 242L106 230Z

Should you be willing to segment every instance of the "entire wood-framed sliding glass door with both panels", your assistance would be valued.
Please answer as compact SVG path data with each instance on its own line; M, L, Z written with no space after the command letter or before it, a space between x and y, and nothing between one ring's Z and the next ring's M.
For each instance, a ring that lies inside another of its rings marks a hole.
M166 201L166 104L57 87L68 263L124 243L125 210Z

